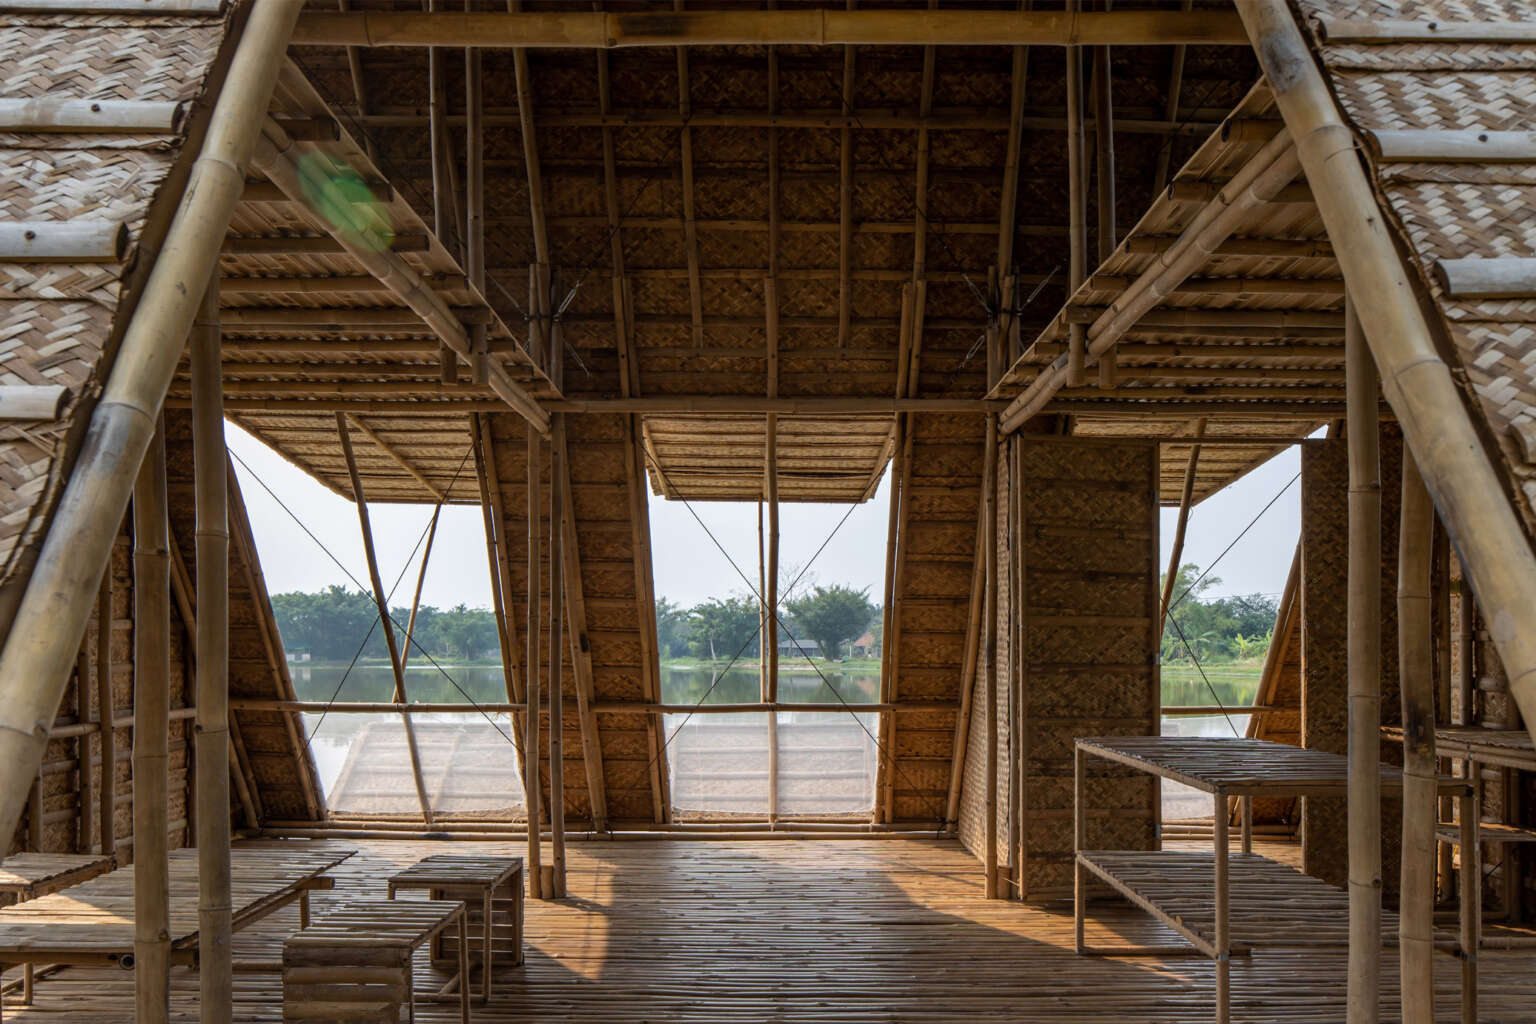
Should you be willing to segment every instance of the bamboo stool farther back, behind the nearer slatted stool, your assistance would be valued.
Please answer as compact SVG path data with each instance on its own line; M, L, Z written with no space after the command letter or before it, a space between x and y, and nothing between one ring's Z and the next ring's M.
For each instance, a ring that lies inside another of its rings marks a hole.
M499 949L511 956L510 966L522 964L522 858L436 854L419 860L389 880L389 898L401 889L425 889L432 900L461 900L470 926L479 923L481 990L478 1001L490 998L498 938ZM450 964L453 950L445 935L432 944L432 963ZM510 946L510 949L508 949ZM473 950L472 950L473 952ZM468 976L464 983L468 986Z

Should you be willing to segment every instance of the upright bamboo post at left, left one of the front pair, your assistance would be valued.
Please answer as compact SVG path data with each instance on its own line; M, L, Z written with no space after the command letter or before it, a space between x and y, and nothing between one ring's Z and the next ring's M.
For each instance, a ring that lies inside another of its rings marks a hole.
M170 551L166 434L134 485L134 1019L170 1015Z

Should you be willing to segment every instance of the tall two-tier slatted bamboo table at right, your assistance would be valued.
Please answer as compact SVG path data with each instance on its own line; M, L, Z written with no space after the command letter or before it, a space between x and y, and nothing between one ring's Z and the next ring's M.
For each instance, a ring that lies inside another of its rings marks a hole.
M1124 765L1158 778L1183 783L1204 791L1212 797L1213 846L1210 857L1204 854L1180 854L1169 851L1087 851L1084 794L1087 777L1084 761L1100 757ZM1078 738L1075 749L1075 798L1074 798L1074 927L1078 953L1091 953L1083 941L1084 889L1087 875L1094 874L1134 904L1158 918L1201 953L1217 961L1217 1009L1218 1024L1232 1018L1232 955L1247 949L1232 938L1232 892L1233 875L1238 877L1243 909L1252 907L1263 920L1263 929L1255 935L1264 940L1284 933L1278 915L1267 913L1266 906L1283 904L1303 910L1296 927L1283 935L1286 946L1349 946L1349 898L1335 886L1303 875L1298 870L1275 864L1253 855L1253 797L1344 797L1349 788L1349 760L1339 754L1309 751L1286 743L1249 738L1215 737L1094 737ZM1402 789L1402 772L1392 766L1381 769L1382 792ZM1441 795L1461 801L1462 829L1475 827L1471 811L1471 788L1459 778L1442 778ZM1229 798L1236 797L1241 821L1240 857L1232 857L1227 847ZM1462 880L1475 870L1473 857L1462 858ZM1235 870L1233 870L1235 869ZM1473 881L1471 884L1476 884ZM1210 894L1210 903L1206 897ZM1478 912L1476 901L1462 900L1461 950L1462 960L1462 1019L1476 1022L1476 950ZM1384 913L1382 921L1390 921ZM1127 955L1134 950L1117 950ZM1149 950L1150 952L1150 950ZM1163 950L1158 950L1163 952Z

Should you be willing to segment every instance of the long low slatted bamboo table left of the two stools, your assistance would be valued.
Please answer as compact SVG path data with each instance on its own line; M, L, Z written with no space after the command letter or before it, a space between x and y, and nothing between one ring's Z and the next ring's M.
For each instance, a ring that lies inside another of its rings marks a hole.
M229 855L232 927L241 930L292 904L309 924L309 894L330 889L324 872L356 851L233 849ZM172 851L170 963L195 964L197 849ZM28 903L0 909L5 964L134 964L134 869L118 867Z

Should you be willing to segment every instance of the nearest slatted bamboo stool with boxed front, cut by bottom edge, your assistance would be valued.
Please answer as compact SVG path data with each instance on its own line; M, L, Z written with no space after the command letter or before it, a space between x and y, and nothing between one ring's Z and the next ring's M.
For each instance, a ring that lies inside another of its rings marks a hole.
M412 953L458 924L461 1024L470 1021L464 904L452 900L341 900L283 940L283 1019L396 1024L416 1019ZM432 998L432 996L422 996Z

